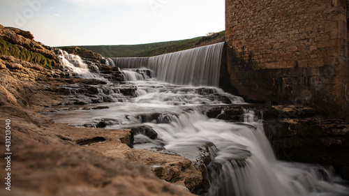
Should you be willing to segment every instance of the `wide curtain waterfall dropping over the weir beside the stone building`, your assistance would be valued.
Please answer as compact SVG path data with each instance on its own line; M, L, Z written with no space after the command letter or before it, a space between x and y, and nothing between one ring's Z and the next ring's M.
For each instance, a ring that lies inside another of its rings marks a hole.
M113 58L120 68L149 68L162 82L190 86L218 86L224 43L158 56Z

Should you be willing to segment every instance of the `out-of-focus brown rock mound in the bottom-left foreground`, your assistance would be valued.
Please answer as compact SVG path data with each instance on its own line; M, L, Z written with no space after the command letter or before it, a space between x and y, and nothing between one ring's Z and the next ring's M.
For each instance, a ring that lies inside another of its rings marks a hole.
M144 165L76 146L25 144L13 151L15 183L6 195L191 195L160 181Z

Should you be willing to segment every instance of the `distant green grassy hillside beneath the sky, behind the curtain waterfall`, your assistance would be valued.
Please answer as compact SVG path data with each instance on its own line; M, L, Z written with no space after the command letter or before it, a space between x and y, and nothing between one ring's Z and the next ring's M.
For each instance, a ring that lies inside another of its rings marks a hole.
M140 57L156 56L170 52L177 52L180 50L187 50L193 47L200 47L202 45L219 43L223 42L224 38L225 31L221 31L219 33L214 33L211 36L162 43L148 43L141 45L89 45L78 47L91 50L92 52L96 52L107 57Z

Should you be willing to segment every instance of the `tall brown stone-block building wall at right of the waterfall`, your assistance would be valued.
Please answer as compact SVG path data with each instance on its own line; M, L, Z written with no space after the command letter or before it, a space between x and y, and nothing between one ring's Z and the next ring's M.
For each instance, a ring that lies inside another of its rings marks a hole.
M225 0L230 84L247 100L349 111L348 0Z

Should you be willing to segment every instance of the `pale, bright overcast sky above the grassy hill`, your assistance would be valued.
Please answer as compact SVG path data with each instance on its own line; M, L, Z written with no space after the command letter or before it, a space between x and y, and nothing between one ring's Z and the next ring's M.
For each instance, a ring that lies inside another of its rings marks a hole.
M52 47L133 45L225 29L225 0L0 0L0 24Z

